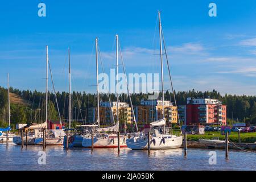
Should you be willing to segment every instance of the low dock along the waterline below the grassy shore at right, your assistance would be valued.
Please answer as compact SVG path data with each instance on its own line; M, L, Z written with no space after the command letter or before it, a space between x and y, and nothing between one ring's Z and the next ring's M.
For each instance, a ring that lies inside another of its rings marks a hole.
M188 148L220 148L225 149L225 143L215 143L215 142L187 142ZM229 143L230 149L237 150L254 150L256 151L256 143Z

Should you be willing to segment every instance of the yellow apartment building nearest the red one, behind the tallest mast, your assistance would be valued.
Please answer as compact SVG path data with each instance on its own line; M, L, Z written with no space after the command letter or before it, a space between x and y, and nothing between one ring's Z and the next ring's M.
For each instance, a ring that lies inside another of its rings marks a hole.
M141 100L141 105L134 107L136 121L139 124L149 124L163 118L162 100ZM170 101L164 101L164 118L168 123L177 123L176 106Z

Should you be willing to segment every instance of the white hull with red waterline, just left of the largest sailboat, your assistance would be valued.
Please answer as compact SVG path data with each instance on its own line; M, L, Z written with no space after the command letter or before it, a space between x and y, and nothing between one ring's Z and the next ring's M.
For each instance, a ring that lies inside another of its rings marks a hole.
M93 147L94 148L117 148L117 137L111 138L93 138ZM92 147L92 138L84 138L82 140L83 147ZM127 147L126 137L120 137L120 147Z

